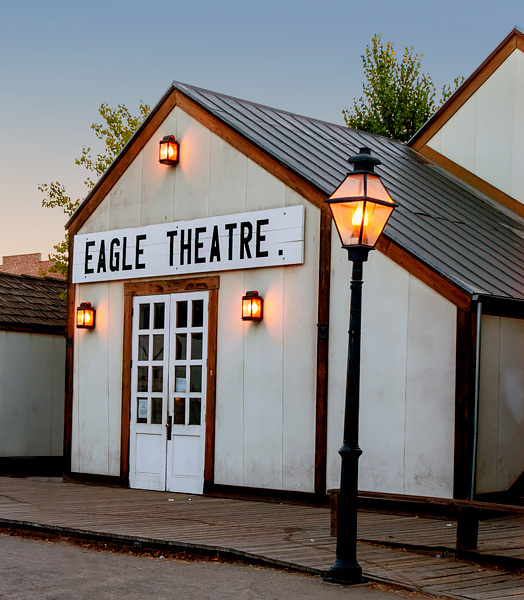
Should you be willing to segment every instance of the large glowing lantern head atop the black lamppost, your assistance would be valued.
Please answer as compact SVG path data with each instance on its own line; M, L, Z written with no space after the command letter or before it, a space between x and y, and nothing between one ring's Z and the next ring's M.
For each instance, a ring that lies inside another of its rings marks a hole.
M338 229L342 247L367 249L375 247L393 209L398 206L380 177L374 172L380 160L371 156L369 148L351 156L353 171L328 198L327 202Z

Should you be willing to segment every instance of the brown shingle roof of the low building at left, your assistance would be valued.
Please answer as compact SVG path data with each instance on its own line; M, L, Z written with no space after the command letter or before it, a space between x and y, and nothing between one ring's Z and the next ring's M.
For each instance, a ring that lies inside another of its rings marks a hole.
M65 332L66 303L60 294L67 282L58 279L0 273L0 329Z

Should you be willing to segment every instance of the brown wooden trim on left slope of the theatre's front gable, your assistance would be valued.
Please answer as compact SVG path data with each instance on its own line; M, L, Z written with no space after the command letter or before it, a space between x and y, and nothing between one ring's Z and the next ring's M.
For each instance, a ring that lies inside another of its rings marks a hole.
M149 117L144 121L135 135L128 142L115 162L109 167L91 193L82 202L78 210L66 224L69 235L75 235L93 212L98 208L102 200L111 191L111 188L124 174L144 146L151 139L155 131L160 127L164 119L175 107L175 90L170 88L162 100L153 109Z

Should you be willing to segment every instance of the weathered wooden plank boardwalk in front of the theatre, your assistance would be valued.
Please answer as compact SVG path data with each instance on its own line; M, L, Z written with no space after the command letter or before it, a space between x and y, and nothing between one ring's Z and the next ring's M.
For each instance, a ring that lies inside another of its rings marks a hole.
M0 526L220 553L321 575L332 564L327 508L189 496L60 479L0 478ZM359 515L359 562L366 575L451 598L524 600L524 575L445 556L455 524L377 512ZM524 519L483 522L480 551L524 558ZM427 554L378 544L425 546ZM523 571L524 573L524 571Z

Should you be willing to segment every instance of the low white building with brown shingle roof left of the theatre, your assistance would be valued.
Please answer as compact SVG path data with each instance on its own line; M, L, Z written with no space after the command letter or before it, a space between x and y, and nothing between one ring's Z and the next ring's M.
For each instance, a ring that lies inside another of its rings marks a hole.
M63 470L66 283L0 273L0 473Z

